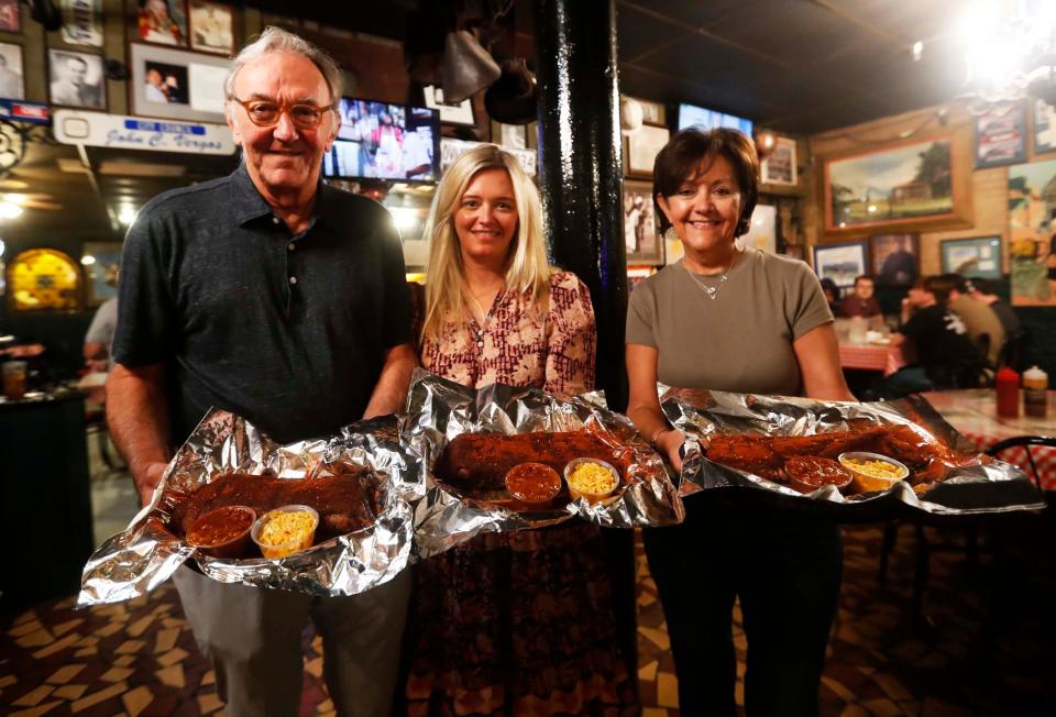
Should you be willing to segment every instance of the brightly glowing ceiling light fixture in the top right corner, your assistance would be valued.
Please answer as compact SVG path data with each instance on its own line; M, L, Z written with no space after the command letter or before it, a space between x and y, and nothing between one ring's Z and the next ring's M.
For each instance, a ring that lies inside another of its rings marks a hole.
M1056 104L1056 7L1052 0L979 0L958 23L967 76L961 98L982 114L994 104Z

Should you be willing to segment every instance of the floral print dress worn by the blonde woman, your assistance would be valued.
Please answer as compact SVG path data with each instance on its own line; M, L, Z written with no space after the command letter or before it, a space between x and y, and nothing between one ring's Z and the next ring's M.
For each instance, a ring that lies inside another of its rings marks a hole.
M448 323L422 345L429 371L572 396L594 384L586 287L550 279L543 316L501 291L484 326ZM620 715L636 701L616 638L596 526L485 533L416 566L408 620L410 715Z

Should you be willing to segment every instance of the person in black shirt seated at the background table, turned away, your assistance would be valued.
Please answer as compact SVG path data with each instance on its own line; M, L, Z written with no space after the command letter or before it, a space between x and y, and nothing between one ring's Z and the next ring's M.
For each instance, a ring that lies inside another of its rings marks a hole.
M950 388L981 366L964 321L946 306L950 289L947 277L930 276L917 280L902 300L902 329L891 337L891 345L902 346L908 360L915 353L916 361L888 378L886 394Z

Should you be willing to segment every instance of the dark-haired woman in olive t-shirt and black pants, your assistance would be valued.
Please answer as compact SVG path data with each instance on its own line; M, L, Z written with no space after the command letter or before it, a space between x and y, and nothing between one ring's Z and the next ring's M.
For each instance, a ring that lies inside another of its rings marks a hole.
M740 250L759 161L733 130L680 132L657 156L661 225L685 256L635 288L627 316L628 413L681 467L684 435L657 380L689 389L854 400L833 315L803 262ZM669 234L670 235L670 234ZM734 600L748 639L749 715L813 715L839 594L839 529L760 515L739 492L686 501L686 520L645 531L686 715L735 715Z

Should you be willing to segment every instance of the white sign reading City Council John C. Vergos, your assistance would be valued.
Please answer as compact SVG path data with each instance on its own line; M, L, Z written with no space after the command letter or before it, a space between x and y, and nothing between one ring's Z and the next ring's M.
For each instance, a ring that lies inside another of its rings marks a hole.
M234 153L231 130L226 124L56 110L54 129L55 137L64 144L147 152Z

